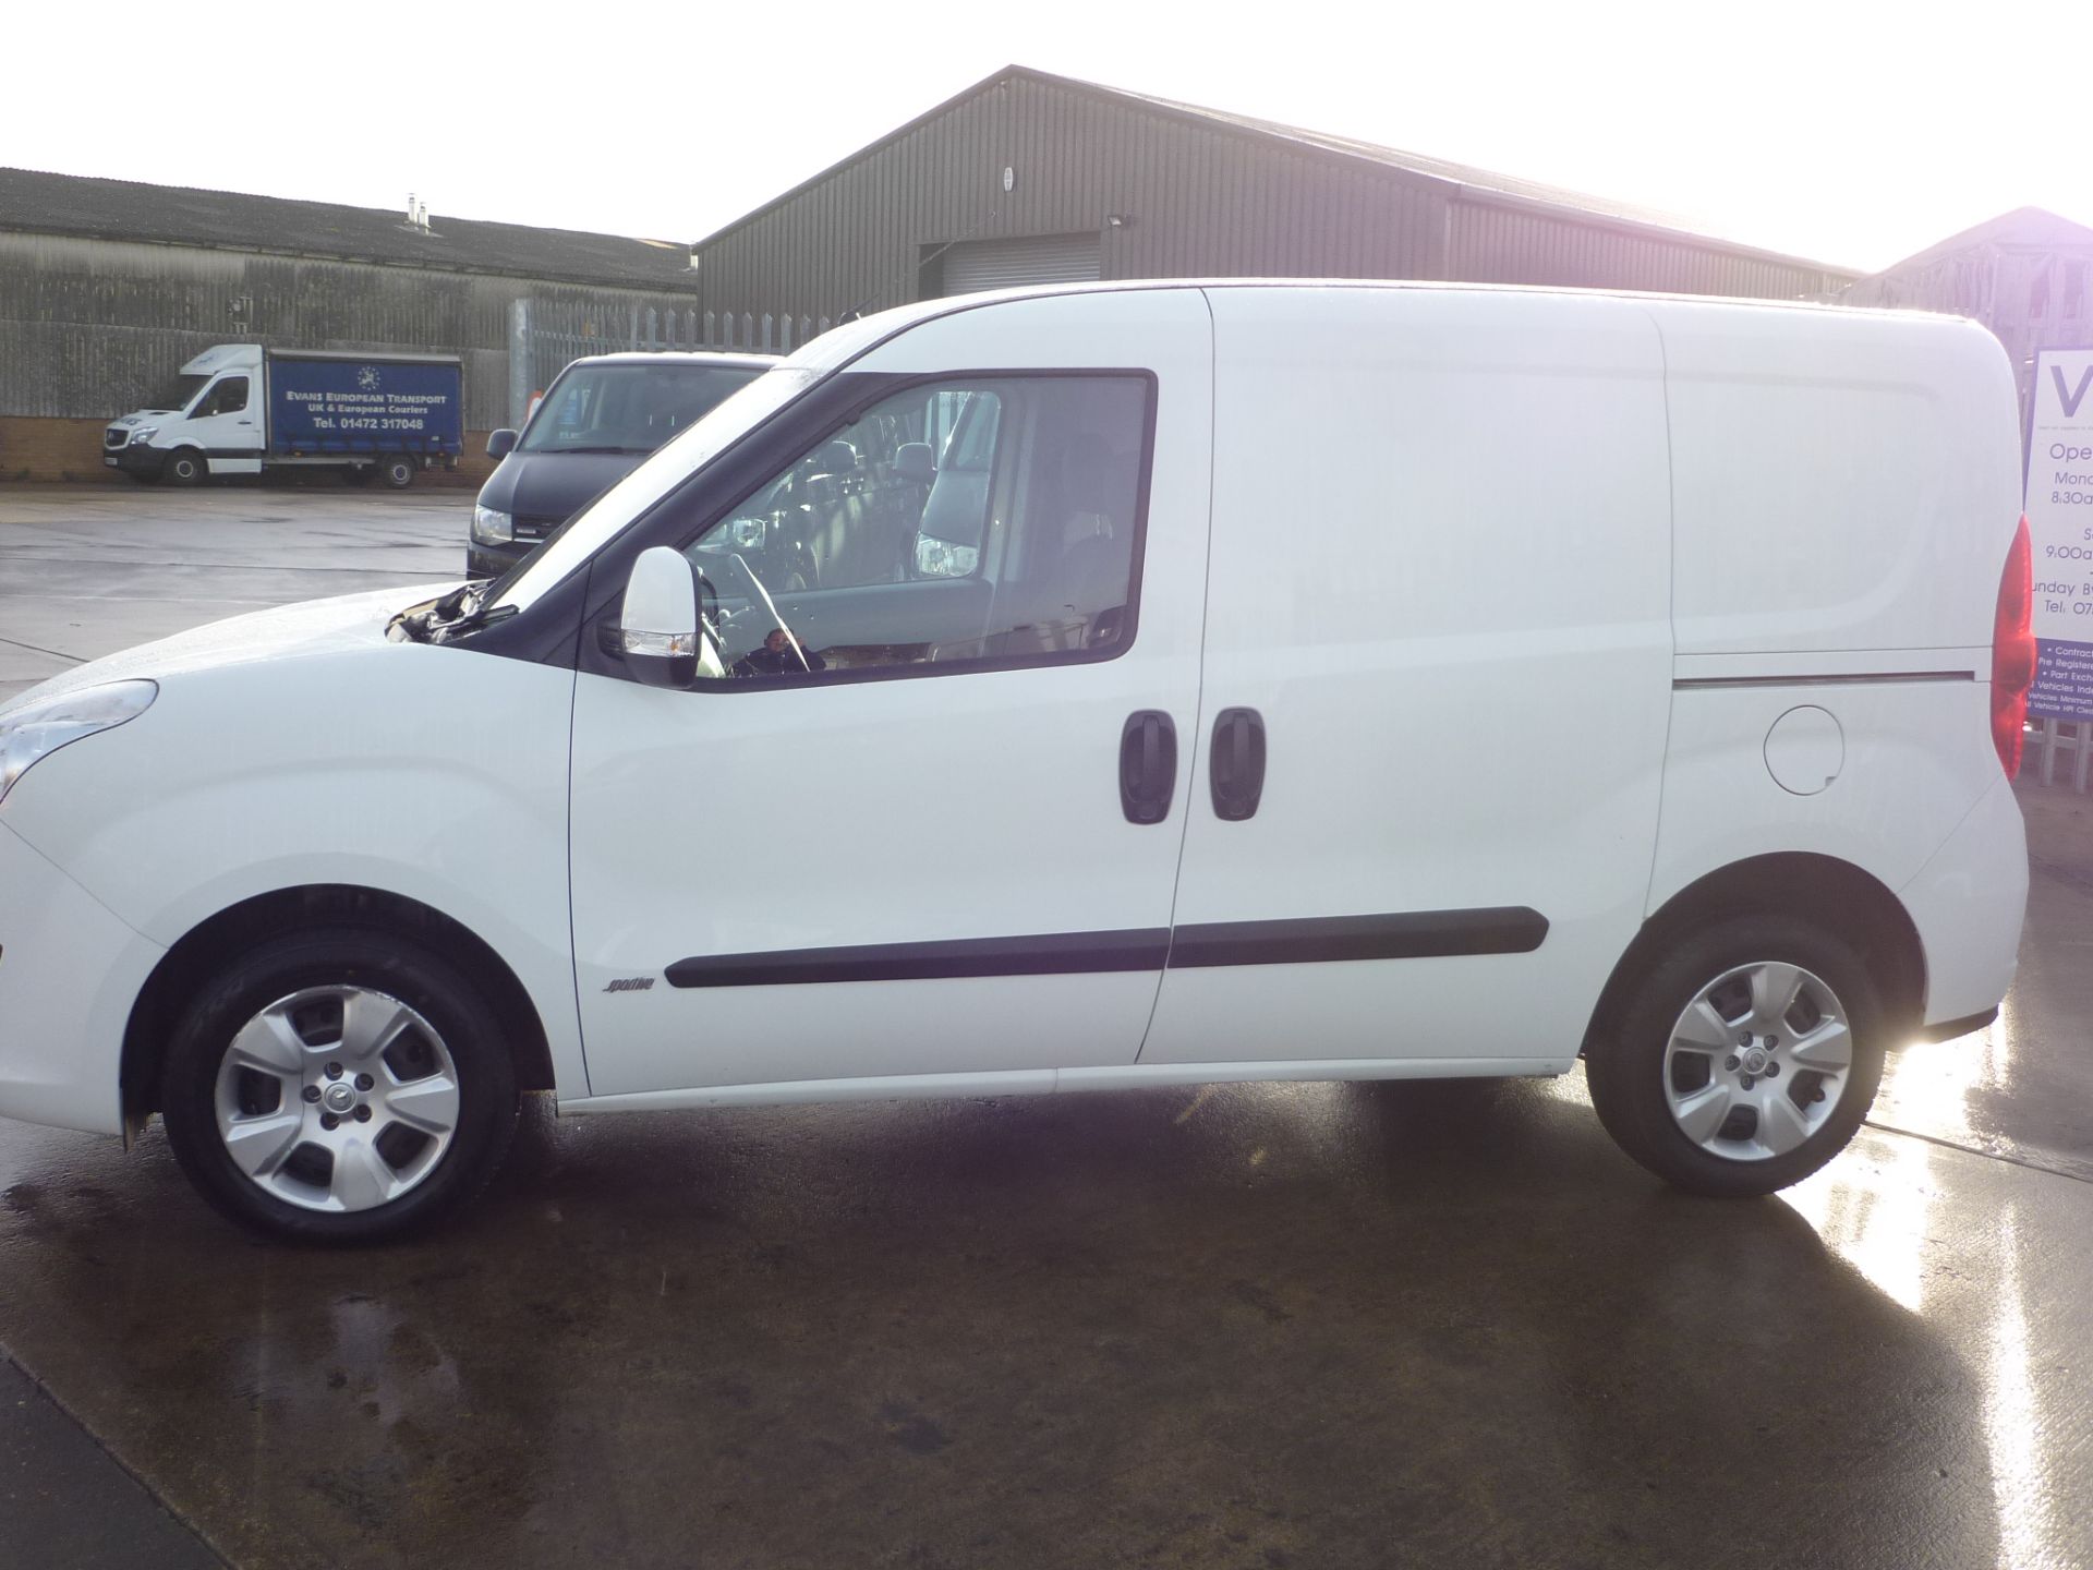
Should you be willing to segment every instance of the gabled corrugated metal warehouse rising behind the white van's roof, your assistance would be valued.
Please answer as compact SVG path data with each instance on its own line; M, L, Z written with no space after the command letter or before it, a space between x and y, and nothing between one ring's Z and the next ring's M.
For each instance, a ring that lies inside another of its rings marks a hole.
M1856 274L1647 209L1011 67L693 247L705 310L823 318L1003 283L1453 278L1821 299Z

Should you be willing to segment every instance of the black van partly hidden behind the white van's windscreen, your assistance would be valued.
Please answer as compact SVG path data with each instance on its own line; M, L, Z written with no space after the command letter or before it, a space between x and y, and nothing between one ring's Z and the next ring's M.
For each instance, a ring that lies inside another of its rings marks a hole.
M494 578L588 507L672 435L777 364L768 354L592 354L538 402L523 435L494 431L465 548L469 578Z

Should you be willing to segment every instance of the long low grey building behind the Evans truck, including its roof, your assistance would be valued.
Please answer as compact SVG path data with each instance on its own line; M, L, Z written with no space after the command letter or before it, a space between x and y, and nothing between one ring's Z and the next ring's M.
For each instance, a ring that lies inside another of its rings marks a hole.
M680 243L0 170L0 479L103 477L103 421L211 343L456 354L486 431L697 306Z

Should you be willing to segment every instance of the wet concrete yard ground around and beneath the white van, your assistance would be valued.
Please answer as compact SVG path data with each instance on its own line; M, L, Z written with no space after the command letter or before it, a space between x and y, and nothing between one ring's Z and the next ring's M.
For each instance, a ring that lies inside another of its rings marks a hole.
M94 563L283 530L61 492L17 551L17 498L0 638L71 653L209 599ZM255 595L454 569L454 496L234 500L339 530ZM2022 798L2003 1019L1777 1199L1666 1191L1580 1076L538 1109L452 1229L312 1254L157 1130L0 1122L0 1344L237 1566L2087 1564L2093 802Z

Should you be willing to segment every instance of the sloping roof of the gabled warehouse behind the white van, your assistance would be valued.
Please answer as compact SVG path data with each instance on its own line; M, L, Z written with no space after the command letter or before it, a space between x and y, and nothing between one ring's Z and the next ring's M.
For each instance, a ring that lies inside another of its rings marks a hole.
M1134 105L1139 109L1147 109L1149 113L1164 115L1168 119L1189 121L1189 124L1206 126L1210 130L1229 132L1229 134L1235 134L1235 136L1250 136L1250 138L1260 140L1260 142L1291 142L1291 144L1296 144L1296 147L1300 147L1304 151L1310 151L1310 153L1323 153L1323 155L1335 155L1335 157L1342 157L1342 159L1348 159L1348 161L1373 163L1377 167L1394 170L1394 172L1400 172L1400 174L1406 174L1406 176L1413 176L1413 178L1419 178L1419 180L1430 180L1434 184L1442 184L1442 186L1448 186L1448 188L1459 188L1463 195L1469 195L1469 197L1480 197L1480 199L1494 197L1494 199L1511 201L1511 203L1517 203L1517 205L1555 209L1555 211L1559 211L1563 216L1570 216L1570 218L1589 218L1589 220L1601 220L1601 222L1612 222L1612 224L1633 224L1637 228L1656 228L1656 230L1664 230L1666 234L1676 234L1676 237L1687 239L1687 241L1697 241L1702 245L1716 245L1716 247L1720 247L1725 251L1735 251L1735 253L1743 253L1743 255L1758 255L1758 257L1766 257L1766 260L1773 260L1773 262L1800 264L1800 266L1815 268L1815 270L1821 270L1821 272L1842 272L1846 276L1854 276L1854 272L1856 272L1854 268L1840 268L1840 266L1831 266L1831 264L1825 264L1825 262L1810 262L1806 257L1785 255L1781 251L1766 251L1766 249L1756 247L1756 245L1743 245L1743 243L1733 241L1729 237L1710 232L1706 224L1697 224L1695 220L1681 218L1679 214L1660 211L1656 207L1639 207L1639 205L1624 203L1624 201L1612 201L1607 197L1591 197L1591 195L1584 195L1580 190L1563 190L1559 186L1547 186L1547 184L1540 184L1536 180L1522 180L1522 178L1509 176L1509 174L1494 174L1490 170L1476 170L1476 167L1469 167L1465 163L1448 163L1446 159L1425 157L1421 153L1402 153L1402 151L1392 149L1392 147L1379 147L1375 142L1360 142L1360 140L1354 140L1350 136L1333 136L1329 132L1304 130L1300 126L1281 126L1279 121L1273 121L1273 119L1254 119L1250 115L1233 115L1233 113L1229 113L1224 109L1203 109L1199 105L1178 103L1174 98L1155 98L1155 96L1145 94L1145 92L1128 92L1124 88L1107 88L1107 86L1101 86L1097 82L1082 82L1078 77L1053 75L1051 71L1034 71L1028 65L1009 65L1009 67L996 71L994 75L982 77L980 82L975 82L965 92L959 92L959 94L946 98L936 109L929 109L927 113L917 115L906 126L890 132L887 136L881 136L871 147L858 149L850 157L839 159L837 163L829 165L827 170L823 170L820 174L812 176L810 180L802 180L791 190L783 193L781 197L774 197L772 201L766 201L756 211L745 214L743 218L737 218L733 224L726 224L718 232L707 234L697 245L699 247L712 245L712 241L720 239L722 234L730 234L733 230L741 228L743 224L747 224L747 222L751 222L751 220L768 214L770 209L781 207L783 203L791 201L802 190L808 190L808 188L820 184L823 180L827 180L829 176L833 176L835 172L839 172L839 170L856 163L867 153L871 153L871 151L875 151L879 147L885 147L887 142L900 140L908 132L913 132L913 130L917 130L921 126L927 126L929 121L938 119L946 111L950 111L950 109L967 103L969 98L973 98L973 96L977 96L982 92L988 92L990 88L994 88L994 86L998 86L1003 82L1044 82L1046 86L1063 88L1067 92L1078 92L1078 94L1084 94L1084 96L1090 96L1090 98L1099 98L1103 103Z

